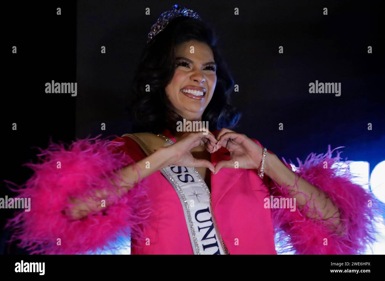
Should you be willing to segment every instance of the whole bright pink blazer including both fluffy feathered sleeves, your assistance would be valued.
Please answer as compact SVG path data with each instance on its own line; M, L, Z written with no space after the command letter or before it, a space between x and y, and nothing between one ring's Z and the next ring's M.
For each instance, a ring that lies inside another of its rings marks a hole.
M175 141L168 130L163 134ZM126 153L113 153L115 148ZM345 225L341 235L330 220L307 216L311 212L320 214L309 202L301 209L297 206L295 212L288 208L265 209L264 198L289 198L293 194L289 187L277 185L268 177L261 180L256 170L223 168L216 175L211 173L213 215L229 253L276 254L273 227L283 230L283 248L277 248L279 252L292 246L289 250L297 254L363 253L375 241L375 218L383 214L377 213L381 208L375 207L377 200L372 193L352 182L348 169L332 168L341 159L341 152L332 157L333 151L329 146L325 154L310 154L304 162L299 161L296 174L319 188L339 208ZM144 157L146 154L129 137L117 137L113 143L98 137L80 139L68 148L52 143L41 149L39 163L25 164L34 174L25 187L17 190L17 197L31 198L34 203L30 212L21 210L8 221L15 228L12 240L20 240L19 245L31 253L89 253L113 247L116 237L127 237L131 229L132 254L193 254L181 202L160 171L125 195L116 194L116 186L110 181L114 171ZM214 165L228 159L229 152L223 147L211 154ZM290 165L286 166L290 169ZM66 215L70 197L84 198L100 188L108 191L110 197L106 200L112 200L111 205L81 220ZM368 206L369 200L373 207Z

